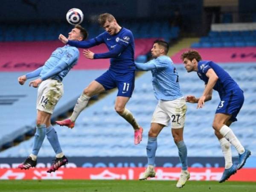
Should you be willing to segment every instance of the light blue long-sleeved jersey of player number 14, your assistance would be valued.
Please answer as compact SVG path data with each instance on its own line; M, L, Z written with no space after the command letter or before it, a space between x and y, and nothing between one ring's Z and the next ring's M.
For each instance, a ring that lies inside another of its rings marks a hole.
M52 52L50 58L45 62L40 76L44 76L49 71L52 71L56 66L59 64L66 64L64 69L61 70L59 73L51 76L52 79L56 79L58 81L62 81L62 79L67 75L70 69L77 63L79 58L79 50L76 47L71 47L66 45L64 47L59 47Z

